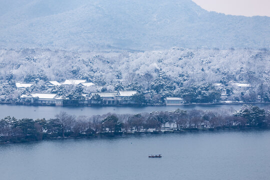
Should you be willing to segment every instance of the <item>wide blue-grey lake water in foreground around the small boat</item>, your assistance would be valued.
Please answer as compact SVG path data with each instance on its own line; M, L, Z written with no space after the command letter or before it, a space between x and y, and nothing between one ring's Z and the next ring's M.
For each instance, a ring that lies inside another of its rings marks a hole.
M0 179L266 180L269 152L256 129L0 144Z

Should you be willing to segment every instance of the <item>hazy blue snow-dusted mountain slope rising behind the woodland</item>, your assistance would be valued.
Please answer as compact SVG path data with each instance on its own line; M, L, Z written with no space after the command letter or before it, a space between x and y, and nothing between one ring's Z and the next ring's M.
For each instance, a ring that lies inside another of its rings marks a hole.
M209 12L192 0L12 0L0 47L153 50L269 48L270 17Z

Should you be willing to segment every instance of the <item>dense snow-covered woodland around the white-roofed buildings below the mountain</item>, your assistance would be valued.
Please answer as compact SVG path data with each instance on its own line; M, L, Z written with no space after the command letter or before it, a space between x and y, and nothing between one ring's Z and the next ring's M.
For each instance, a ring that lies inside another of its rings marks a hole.
M225 84L227 100L269 101L270 51L267 49L184 49L162 51L91 52L51 49L0 49L0 100L15 101L21 93L51 92L67 97L96 91L137 90L138 103L162 103L167 96L189 102L217 102ZM58 86L50 89L46 80L86 79L95 85ZM123 81L115 81L122 79ZM31 82L18 90L15 82ZM250 83L235 88L231 82ZM148 91L147 95L140 93Z

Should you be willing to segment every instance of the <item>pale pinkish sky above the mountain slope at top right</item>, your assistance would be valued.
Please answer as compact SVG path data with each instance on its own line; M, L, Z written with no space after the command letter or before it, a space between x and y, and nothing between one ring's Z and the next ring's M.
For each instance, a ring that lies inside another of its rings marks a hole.
M231 15L270 16L270 0L193 0L208 11Z

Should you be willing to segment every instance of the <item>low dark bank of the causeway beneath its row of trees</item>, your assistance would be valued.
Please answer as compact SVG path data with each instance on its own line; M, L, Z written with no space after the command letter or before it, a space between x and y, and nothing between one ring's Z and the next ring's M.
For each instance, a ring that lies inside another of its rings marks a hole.
M192 129L191 129L192 128ZM52 137L52 138L44 138L42 140L21 140L21 141L6 141L6 142L0 142L1 144L10 144L10 143L25 143L25 142L39 142L43 140L56 140L56 139L81 139L81 138L106 138L106 137L124 137L124 136L130 136L130 135L144 135L144 134L166 134L166 133L185 133L185 132L216 132L216 131L221 131L221 130L255 130L255 129L264 129L264 130L269 130L270 127L205 127L205 128L197 128L191 127L189 130L185 129L176 129L176 128L166 128L166 129L161 129L161 130L141 130L141 131L127 131L127 132L118 132L121 134L114 134L114 132L102 132L101 134L98 135L91 135L91 136L77 136L77 137ZM176 129L176 130L175 130ZM105 135L106 134L106 135Z

